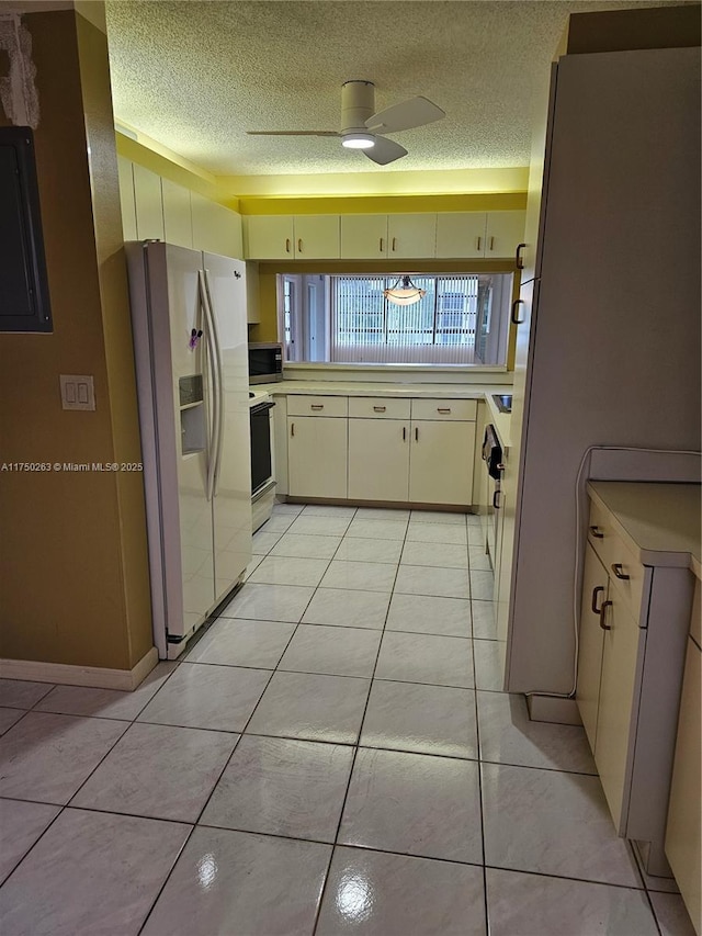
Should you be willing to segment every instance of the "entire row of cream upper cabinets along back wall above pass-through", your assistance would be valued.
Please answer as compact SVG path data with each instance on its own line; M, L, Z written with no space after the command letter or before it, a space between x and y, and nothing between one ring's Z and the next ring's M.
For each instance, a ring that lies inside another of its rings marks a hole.
M511 260L524 212L251 215L246 232L252 260Z

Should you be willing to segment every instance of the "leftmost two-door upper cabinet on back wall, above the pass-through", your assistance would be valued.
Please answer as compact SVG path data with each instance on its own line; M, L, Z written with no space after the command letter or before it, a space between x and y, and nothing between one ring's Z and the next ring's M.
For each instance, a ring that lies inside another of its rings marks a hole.
M250 215L246 256L253 260L336 260L339 215Z

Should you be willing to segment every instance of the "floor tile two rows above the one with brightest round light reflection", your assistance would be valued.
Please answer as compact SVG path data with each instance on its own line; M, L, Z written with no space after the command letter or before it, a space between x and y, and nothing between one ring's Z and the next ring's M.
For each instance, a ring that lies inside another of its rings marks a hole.
M477 759L475 693L472 689L375 679L360 743Z

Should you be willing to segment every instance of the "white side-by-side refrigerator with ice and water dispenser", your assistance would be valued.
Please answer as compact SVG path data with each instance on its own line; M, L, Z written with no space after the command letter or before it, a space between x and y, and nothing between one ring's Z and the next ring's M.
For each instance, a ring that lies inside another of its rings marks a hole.
M246 267L126 245L154 642L179 656L251 561Z

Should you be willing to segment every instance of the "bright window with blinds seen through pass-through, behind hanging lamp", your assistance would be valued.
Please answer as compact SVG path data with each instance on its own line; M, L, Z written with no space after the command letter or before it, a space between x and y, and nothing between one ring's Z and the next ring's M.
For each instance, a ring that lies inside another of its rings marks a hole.
M397 277L331 277L330 360L474 363L479 278L412 277L426 295L405 306L383 295L396 282Z

